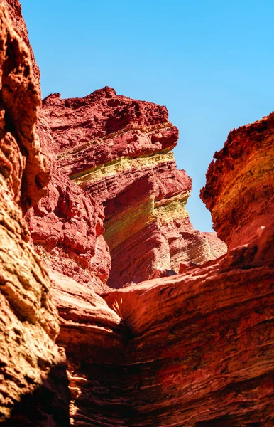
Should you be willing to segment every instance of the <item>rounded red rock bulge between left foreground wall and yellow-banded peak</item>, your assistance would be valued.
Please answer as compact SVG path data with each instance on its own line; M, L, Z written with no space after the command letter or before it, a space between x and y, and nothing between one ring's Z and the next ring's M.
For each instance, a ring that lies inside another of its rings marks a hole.
M103 209L57 169L53 138L43 111L37 133L50 159L51 180L47 196L27 215L35 250L48 267L88 283L94 290L104 290L110 255L102 236Z

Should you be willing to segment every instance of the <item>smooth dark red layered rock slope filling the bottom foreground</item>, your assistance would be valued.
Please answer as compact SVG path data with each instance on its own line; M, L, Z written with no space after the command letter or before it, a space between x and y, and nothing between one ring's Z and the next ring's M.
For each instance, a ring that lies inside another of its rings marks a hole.
M259 150L254 147L254 157ZM72 281L65 289L64 278L52 277L62 319L58 339L69 359L73 425L273 425L271 206L267 212L268 225L257 228L250 243L241 246L239 229L239 247L199 266L182 264L180 275L102 298Z

